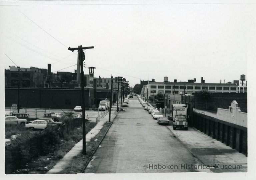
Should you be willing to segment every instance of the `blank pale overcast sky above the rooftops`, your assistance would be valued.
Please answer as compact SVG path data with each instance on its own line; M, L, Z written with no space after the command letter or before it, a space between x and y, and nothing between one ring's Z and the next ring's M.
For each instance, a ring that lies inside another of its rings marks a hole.
M164 76L247 79L251 2L0 1L0 58L5 69L52 64L52 72L74 72L77 53L67 47L83 45L95 47L85 51L95 77L122 76L131 86Z

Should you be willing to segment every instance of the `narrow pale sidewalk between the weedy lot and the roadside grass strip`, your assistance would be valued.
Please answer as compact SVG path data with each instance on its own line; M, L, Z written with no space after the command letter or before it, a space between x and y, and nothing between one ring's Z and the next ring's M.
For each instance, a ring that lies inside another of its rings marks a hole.
M114 105L113 105L114 107ZM111 121L115 119L117 115L117 112L115 110L111 109ZM86 134L86 142L89 142L91 138L96 136L101 128L103 127L103 124L109 120L109 113L103 118L100 119L100 121L97 123L97 125L90 130ZM50 169L46 174L57 174L58 172L62 171L66 165L69 164L69 162L72 160L72 158L76 155L78 155L83 150L83 139L81 139L75 146L62 158L60 161L57 162L57 164Z

